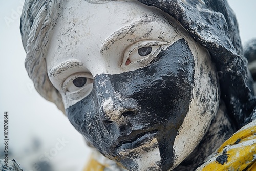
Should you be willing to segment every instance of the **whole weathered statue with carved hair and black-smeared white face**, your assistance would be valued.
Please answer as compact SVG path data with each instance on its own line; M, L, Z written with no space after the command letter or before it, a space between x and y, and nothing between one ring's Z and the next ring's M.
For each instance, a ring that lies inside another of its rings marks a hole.
M193 170L242 126L254 130L253 82L225 0L28 0L20 21L37 91L120 168ZM255 155L252 131L227 145ZM227 145L198 169L233 161Z

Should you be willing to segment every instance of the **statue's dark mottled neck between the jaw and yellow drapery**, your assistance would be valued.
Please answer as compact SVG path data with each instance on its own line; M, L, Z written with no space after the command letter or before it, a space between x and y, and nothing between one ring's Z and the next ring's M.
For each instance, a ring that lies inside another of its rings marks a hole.
M194 151L174 170L193 170L227 140L236 129L227 116L226 106L220 102L219 110L202 141Z

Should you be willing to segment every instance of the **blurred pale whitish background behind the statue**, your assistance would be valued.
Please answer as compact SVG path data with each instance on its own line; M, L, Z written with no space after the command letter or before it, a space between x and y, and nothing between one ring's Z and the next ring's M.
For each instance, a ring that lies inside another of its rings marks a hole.
M15 158L28 171L81 171L90 149L55 104L36 92L25 70L19 32L23 3L2 0L0 5L0 156L4 154L3 115L8 111L9 160ZM243 44L256 38L256 1L229 0L229 4L237 15ZM66 143L61 146L62 139ZM56 149L56 144L62 148ZM48 164L40 165L39 160Z

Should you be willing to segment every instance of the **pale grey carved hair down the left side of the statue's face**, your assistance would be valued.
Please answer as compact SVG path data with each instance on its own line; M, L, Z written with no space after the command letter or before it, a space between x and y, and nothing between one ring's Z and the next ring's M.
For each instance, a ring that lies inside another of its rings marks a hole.
M64 112L61 95L53 87L47 75L44 56L51 31L57 23L62 6L62 0L25 1L20 18L20 32L23 47L27 52L25 68L34 82L36 90L42 97L54 102Z

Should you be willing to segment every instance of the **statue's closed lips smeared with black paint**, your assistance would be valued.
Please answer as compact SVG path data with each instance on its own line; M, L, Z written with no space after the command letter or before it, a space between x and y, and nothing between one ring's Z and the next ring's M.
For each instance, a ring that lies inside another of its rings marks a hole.
M157 133L158 130L148 131L136 135L133 139L121 141L119 143L119 150L126 151L145 145L147 142L150 142L156 136Z

